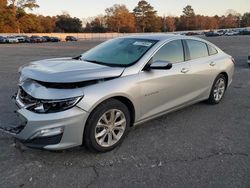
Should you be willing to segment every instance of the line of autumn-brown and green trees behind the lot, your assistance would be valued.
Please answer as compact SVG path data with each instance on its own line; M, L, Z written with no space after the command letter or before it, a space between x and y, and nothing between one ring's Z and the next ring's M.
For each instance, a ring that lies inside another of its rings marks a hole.
M173 32L250 27L250 12L243 15L228 10L223 16L196 14L192 6L183 8L180 16L158 16L157 10L141 0L129 11L126 5L115 4L105 9L104 15L80 20L68 13L43 16L27 13L38 8L36 0L0 0L1 33L51 33L51 32Z

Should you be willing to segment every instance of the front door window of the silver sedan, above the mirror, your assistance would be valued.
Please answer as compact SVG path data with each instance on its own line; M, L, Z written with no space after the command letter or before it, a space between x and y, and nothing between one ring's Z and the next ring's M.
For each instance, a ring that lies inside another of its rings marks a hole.
M157 60L169 61L171 63L184 61L184 52L181 40L171 41L161 47L161 49L159 49L153 57L153 62Z

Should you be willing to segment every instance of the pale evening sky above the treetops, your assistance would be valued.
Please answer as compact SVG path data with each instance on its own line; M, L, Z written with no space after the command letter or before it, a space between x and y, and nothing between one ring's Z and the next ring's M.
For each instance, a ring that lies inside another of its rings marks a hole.
M139 0L37 0L40 8L33 13L55 16L67 11L80 19L105 14L105 9L114 4L125 4L130 11ZM186 5L191 5L196 14L207 16L224 15L233 9L239 13L250 12L250 0L147 0L159 16L179 16Z

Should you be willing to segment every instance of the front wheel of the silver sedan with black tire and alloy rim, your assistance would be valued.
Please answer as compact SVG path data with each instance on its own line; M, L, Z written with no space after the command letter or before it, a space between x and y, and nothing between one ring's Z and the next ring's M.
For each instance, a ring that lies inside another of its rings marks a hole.
M109 99L90 114L84 131L84 145L91 151L110 151L121 144L129 126L127 106L119 100Z

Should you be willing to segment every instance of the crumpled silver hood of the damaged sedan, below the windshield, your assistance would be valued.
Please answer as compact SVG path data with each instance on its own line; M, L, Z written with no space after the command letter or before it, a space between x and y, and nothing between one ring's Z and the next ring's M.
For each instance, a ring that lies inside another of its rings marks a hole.
M35 61L19 69L21 79L48 83L75 83L119 77L123 67L110 67L72 58Z

